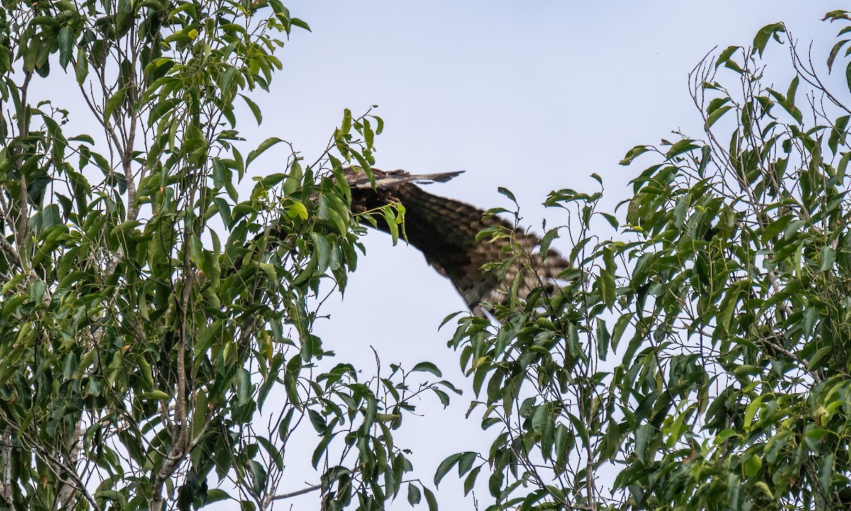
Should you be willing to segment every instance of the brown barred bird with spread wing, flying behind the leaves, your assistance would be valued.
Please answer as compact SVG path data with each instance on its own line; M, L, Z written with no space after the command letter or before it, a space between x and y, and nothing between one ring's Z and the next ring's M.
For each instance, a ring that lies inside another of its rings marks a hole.
M371 172L373 180L360 168L344 169L343 175L351 188L352 213L364 215L391 203L402 204L408 244L420 250L426 262L449 279L474 315L485 317L486 311L492 310L488 307L505 303L512 284L517 286L517 296L522 299L536 288L544 287L548 292L558 289L558 276L570 264L556 250L548 249L543 257L538 251L541 240L534 233L498 215L486 215L476 206L434 195L420 187L447 182L461 171L421 175L401 169L371 169ZM362 223L372 225L367 219ZM386 233L391 231L379 215L374 218L373 227ZM477 241L477 234L488 227L507 235ZM488 263L504 260L515 249L522 256L517 264L507 267L502 278L495 269L483 269ZM523 280L516 283L517 278Z

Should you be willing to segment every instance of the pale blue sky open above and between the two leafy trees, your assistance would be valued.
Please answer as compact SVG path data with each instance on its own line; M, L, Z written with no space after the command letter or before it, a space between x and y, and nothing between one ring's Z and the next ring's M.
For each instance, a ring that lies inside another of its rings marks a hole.
M379 105L386 130L377 141L378 168L464 169L431 191L489 208L507 205L496 188L508 187L525 225L540 231L548 214L540 202L552 189L594 191L587 176L596 172L615 204L638 171L618 166L631 146L655 143L671 129L700 136L687 75L713 47L747 46L760 27L785 21L803 43L817 39L814 57L822 63L838 27L820 18L843 6L820 0L289 2L312 33L294 32L280 54L284 70L272 94L260 97L266 120L256 139L280 136L312 161L343 108L357 113ZM786 54L772 49L767 56ZM258 160L255 169L262 161L275 160ZM366 242L368 254L345 300L323 309L331 315L318 327L325 346L366 367L369 346L385 366L431 360L463 384L455 353L446 348L453 329L438 332L437 325L464 303L419 252L393 248L381 233ZM449 454L487 450L491 435L481 432L478 416L463 420L469 399L470 393L455 397L448 411L424 402L425 416L409 417L399 433L399 442L414 449L423 479L431 480ZM301 487L295 479L292 485ZM451 474L437 497L447 509L472 508ZM479 497L486 507L487 491ZM408 504L402 496L391 508Z

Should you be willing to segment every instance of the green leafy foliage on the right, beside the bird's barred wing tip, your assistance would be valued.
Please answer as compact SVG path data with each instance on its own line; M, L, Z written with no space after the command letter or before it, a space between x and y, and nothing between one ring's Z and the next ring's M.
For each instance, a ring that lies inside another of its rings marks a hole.
M844 24L827 65L851 77L851 14L825 19ZM780 88L772 40L791 51ZM497 326L460 319L473 406L499 431L437 481L457 466L469 491L489 464L490 509L848 508L851 78L823 82L774 24L691 89L705 134L626 155L654 162L617 238L591 234L618 227L599 194L554 192L575 214L561 292L506 290Z

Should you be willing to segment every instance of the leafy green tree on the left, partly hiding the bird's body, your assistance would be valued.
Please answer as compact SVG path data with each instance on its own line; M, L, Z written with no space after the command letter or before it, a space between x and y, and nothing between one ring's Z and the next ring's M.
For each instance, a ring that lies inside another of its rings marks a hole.
M3 2L0 508L266 509L316 490L377 509L402 488L392 430L420 393L448 397L397 366L360 381L311 333L320 284L342 290L362 249L334 177L368 171L380 119L346 111L316 164L293 152L236 186L283 146L243 154L237 104L260 123L249 94L294 29L277 0ZM305 428L322 477L292 491Z

